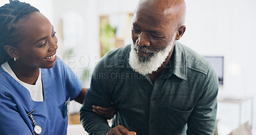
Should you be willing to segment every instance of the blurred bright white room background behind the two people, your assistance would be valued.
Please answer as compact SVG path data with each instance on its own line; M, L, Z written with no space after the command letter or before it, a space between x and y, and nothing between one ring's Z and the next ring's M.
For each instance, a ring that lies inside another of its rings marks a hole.
M40 10L58 37L57 55L90 87L106 52L131 44L138 0L20 0ZM8 3L1 0L0 5ZM219 77L218 134L248 122L256 134L256 1L186 0L186 33L179 42L211 61ZM70 104L68 134L84 134L81 105Z

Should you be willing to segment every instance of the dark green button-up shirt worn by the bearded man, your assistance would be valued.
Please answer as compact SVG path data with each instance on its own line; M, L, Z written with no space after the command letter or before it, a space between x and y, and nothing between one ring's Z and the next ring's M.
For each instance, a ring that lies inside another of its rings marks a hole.
M210 62L176 42L167 71L151 83L148 75L129 65L131 45L108 52L92 75L91 87L81 108L81 123L90 134L106 134L106 118L92 105L118 112L112 127L123 125L140 135L204 134L214 132L218 77Z

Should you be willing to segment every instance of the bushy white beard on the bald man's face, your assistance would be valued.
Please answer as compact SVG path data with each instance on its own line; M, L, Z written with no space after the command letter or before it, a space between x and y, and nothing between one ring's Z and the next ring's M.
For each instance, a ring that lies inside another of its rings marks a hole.
M174 36L175 37L175 36ZM168 46L159 51L154 51L152 56L148 56L148 58L145 58L143 56L139 56L136 52L136 49L138 49L137 45L131 45L131 52L129 55L129 64L132 67L132 69L136 72L139 72L142 75L146 74L152 74L153 72L156 72L159 67L164 63L166 58L169 56L169 52L172 50L174 39L172 38L170 44ZM143 49L143 51L147 51ZM152 52L152 51L147 51ZM144 59L145 58L145 59Z

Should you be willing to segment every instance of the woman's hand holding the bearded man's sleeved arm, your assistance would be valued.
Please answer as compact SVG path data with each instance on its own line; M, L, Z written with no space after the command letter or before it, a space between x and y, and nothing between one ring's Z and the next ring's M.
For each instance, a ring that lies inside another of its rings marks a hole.
M113 105L113 102L111 102ZM97 115L104 116L105 118L111 119L116 113L116 107L113 105L111 107L100 107L100 106L92 106L92 111Z

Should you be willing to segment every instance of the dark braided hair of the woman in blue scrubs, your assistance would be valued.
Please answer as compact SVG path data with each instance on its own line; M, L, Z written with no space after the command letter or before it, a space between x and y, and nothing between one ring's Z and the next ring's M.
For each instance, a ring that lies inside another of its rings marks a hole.
M15 47L19 42L19 20L34 12L39 10L20 1L10 0L9 4L0 7L0 66L10 58L4 50L4 45Z

